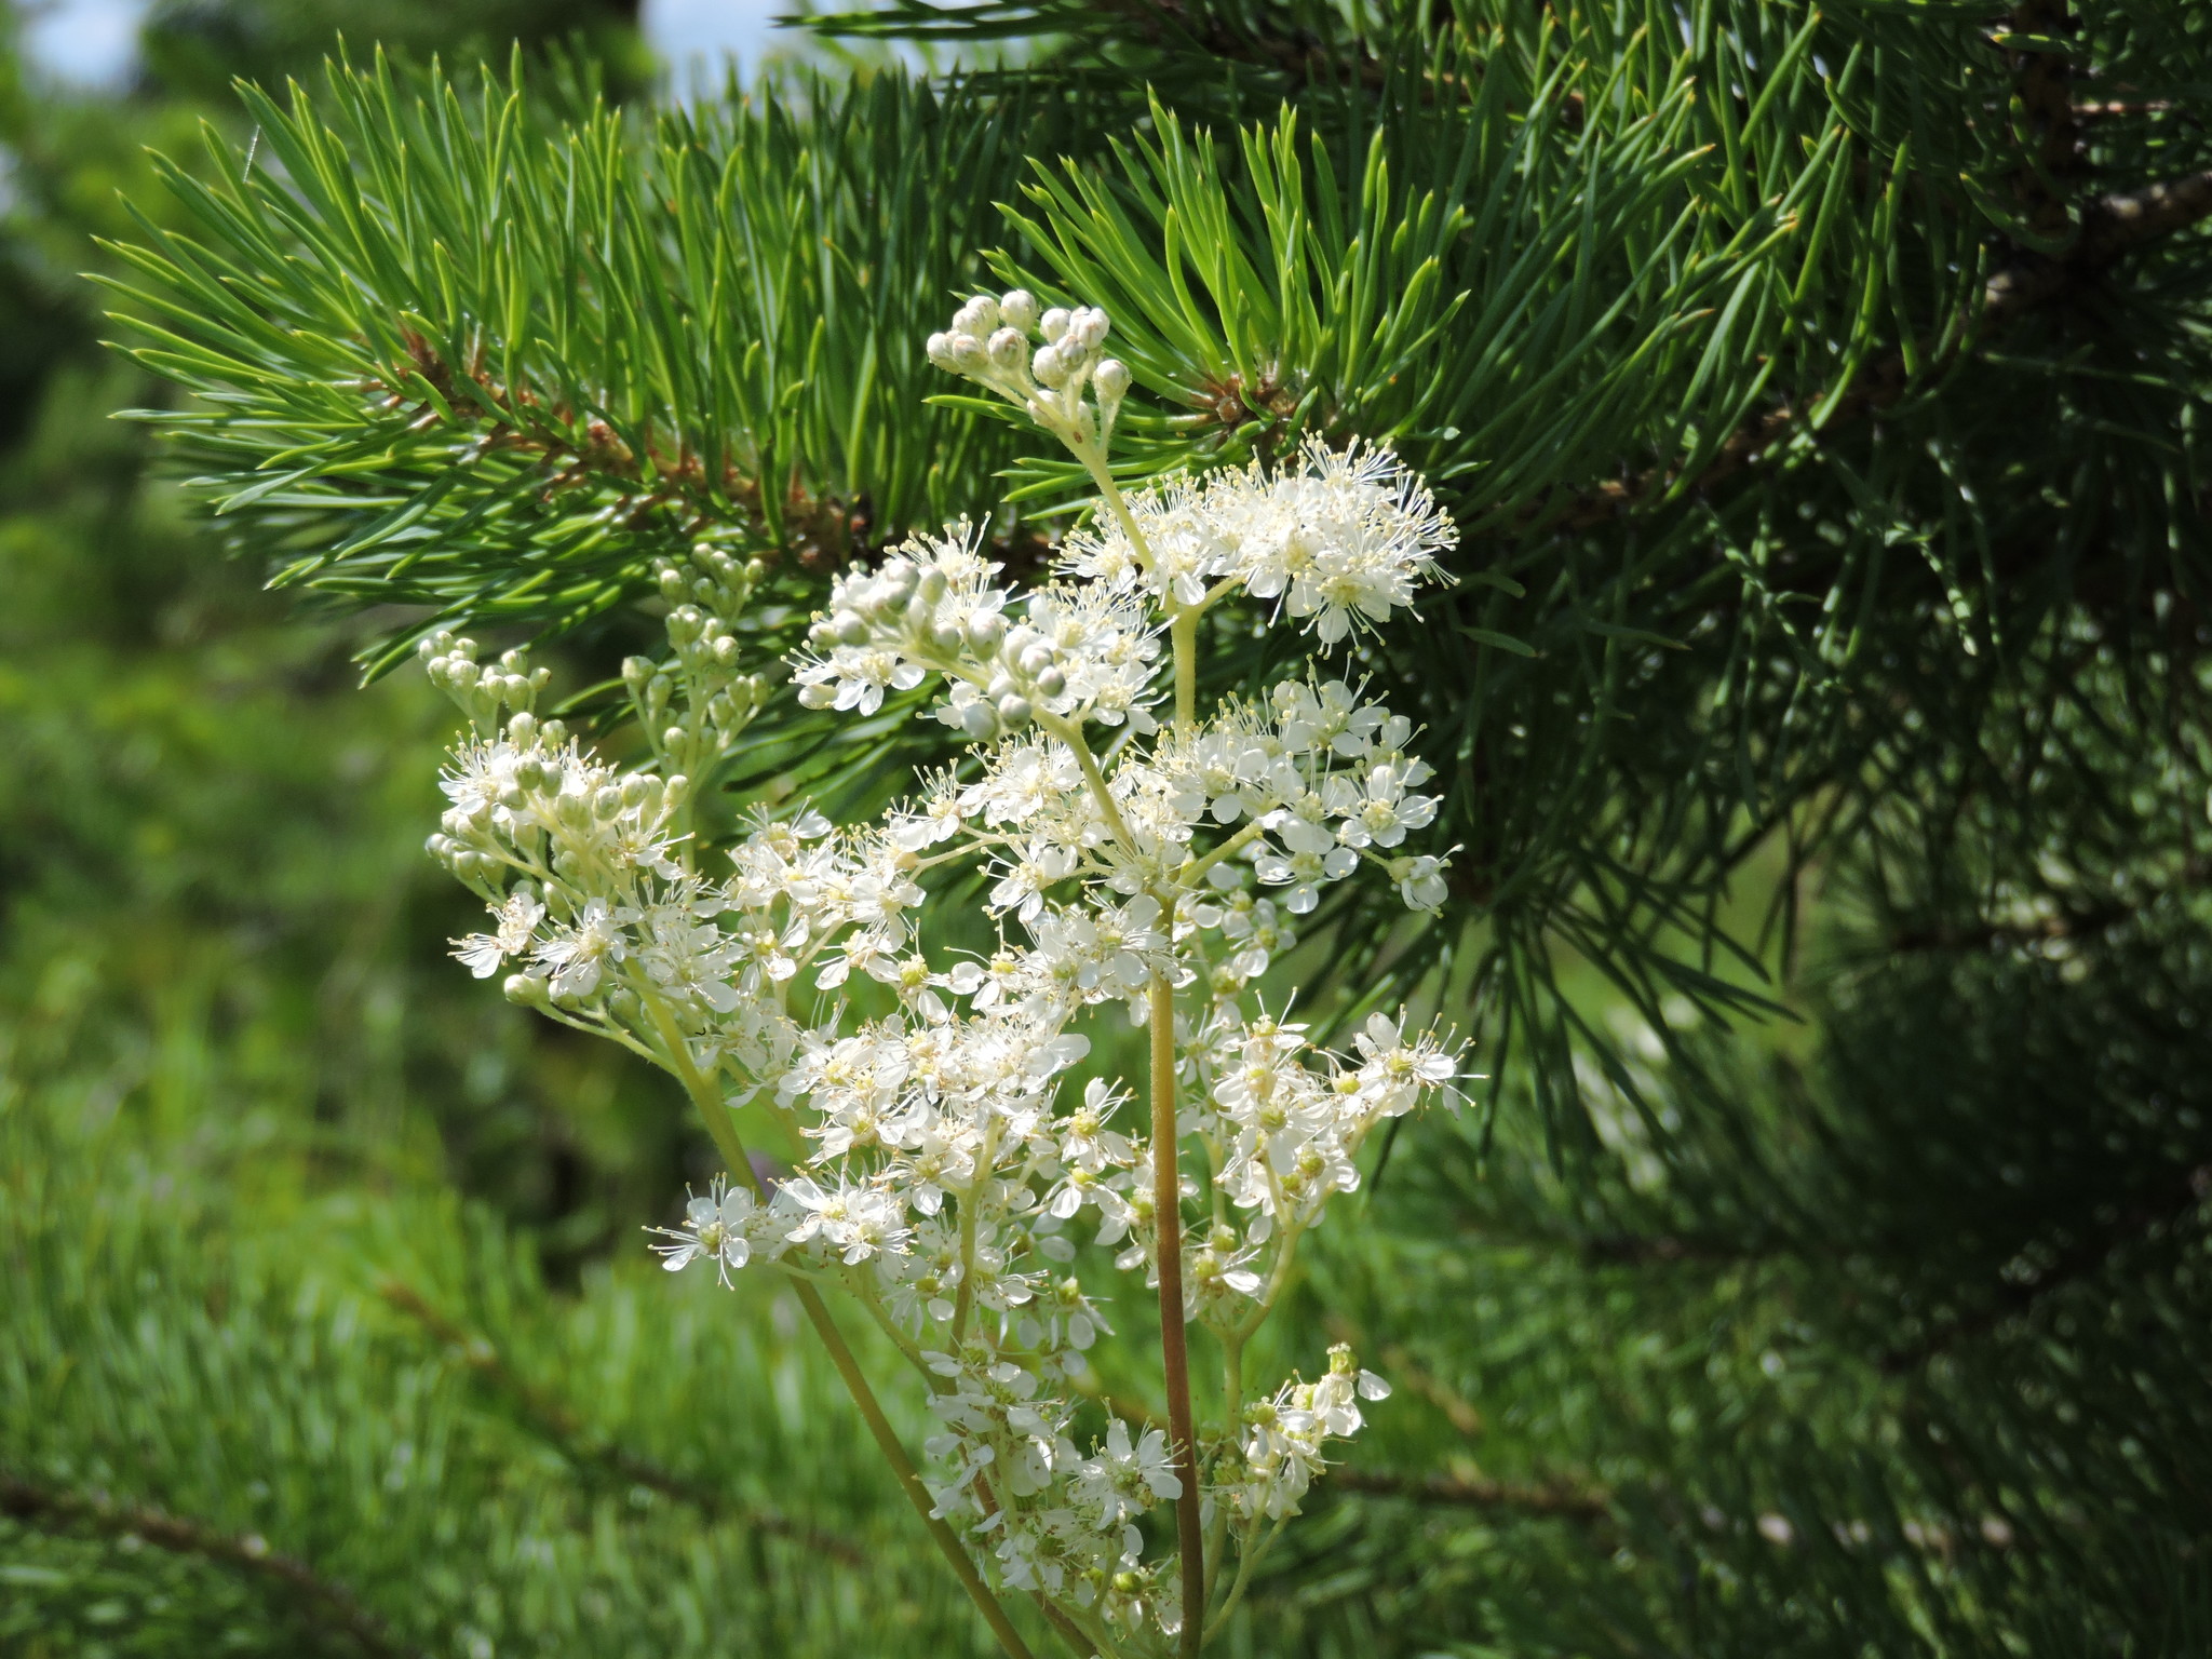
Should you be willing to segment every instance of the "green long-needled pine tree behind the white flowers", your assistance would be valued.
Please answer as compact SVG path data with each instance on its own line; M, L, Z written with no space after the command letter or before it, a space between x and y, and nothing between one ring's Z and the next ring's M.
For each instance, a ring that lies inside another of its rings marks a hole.
M1449 876L1413 916L1321 887L1263 987L1340 1044L1440 1015L1484 1077L1371 1139L1358 1225L1285 1279L1279 1371L1347 1343L1398 1389L1223 1648L2201 1650L2212 18L896 0L814 27L1018 66L661 111L520 64L243 88L252 139L170 168L179 219L117 248L137 363L192 394L153 420L241 555L374 606L367 675L431 641L487 719L538 697L646 765L706 743L655 734L688 604L774 664L818 611L821 650L865 619L914 535L967 520L1037 586L1099 491L1391 449L1455 544L1352 653L1425 728ZM953 305L1013 294L1110 319L1110 462L931 363ZM1285 677L1265 613L1194 615L1197 695ZM743 710L710 721L701 847L799 796L874 816L958 759L911 679L858 721L772 681L717 681ZM155 1544L210 1619L261 1597L263 1650L1117 1639L973 1621L765 1290L608 1270L557 1301L436 1197L86 1250L97 1148L9 1133L53 1175L7 1223L35 1294L4 1314L31 1363L0 1509ZM137 1347L135 1285L184 1310ZM896 1363L880 1336L863 1369ZM1102 1363L1079 1409L1188 1438L1148 1387ZM226 1398L221 1455L124 1451ZM869 1429L929 1422L887 1391ZM849 1599L810 1571L852 1557Z

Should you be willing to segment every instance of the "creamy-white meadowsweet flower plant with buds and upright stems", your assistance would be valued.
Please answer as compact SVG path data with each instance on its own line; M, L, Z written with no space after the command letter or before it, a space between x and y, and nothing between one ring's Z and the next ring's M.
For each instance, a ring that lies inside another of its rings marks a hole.
M1413 604L1453 526L1358 445L1124 493L1108 447L1130 374L1106 334L1104 312L1011 292L929 338L1066 445L1097 502L1022 593L969 524L834 584L792 661L799 699L874 714L927 688L964 745L876 823L799 807L699 843L692 803L770 695L734 626L761 571L728 549L659 573L668 657L624 672L637 770L540 719L544 672L520 655L422 646L473 726L431 852L493 925L456 956L681 1079L728 1172L653 1248L670 1270L794 1285L1013 1655L1006 1599L1086 1655L1188 1655L1223 1626L1329 1442L1387 1394L1347 1347L1312 1378L1248 1376L1254 1332L1358 1186L1367 1137L1449 1097L1460 1064L1387 1015L1318 1051L1254 991L1329 883L1444 898L1444 856L1416 849L1436 803L1413 728L1327 655ZM1234 597L1318 655L1201 708L1199 624ZM982 956L922 925L931 876L962 865L987 874ZM1124 1018L1148 1075L1082 1077L1088 1033ZM741 1146L748 1104L810 1148L787 1177ZM1150 1301L1137 1283L1157 1294L1166 1413L1093 1431L1086 1352ZM823 1292L929 1389L920 1464ZM1219 1367L1203 1425L1192 1365Z

